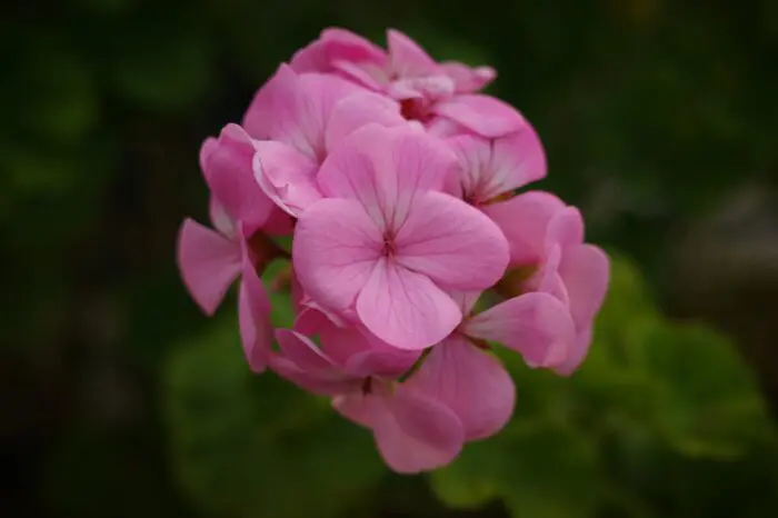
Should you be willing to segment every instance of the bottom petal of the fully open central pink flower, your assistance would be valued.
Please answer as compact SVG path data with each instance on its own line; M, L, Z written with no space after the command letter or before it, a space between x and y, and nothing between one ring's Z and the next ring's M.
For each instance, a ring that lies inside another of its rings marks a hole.
M410 350L439 342L462 319L456 302L427 276L386 258L375 262L357 298L357 315L378 338Z

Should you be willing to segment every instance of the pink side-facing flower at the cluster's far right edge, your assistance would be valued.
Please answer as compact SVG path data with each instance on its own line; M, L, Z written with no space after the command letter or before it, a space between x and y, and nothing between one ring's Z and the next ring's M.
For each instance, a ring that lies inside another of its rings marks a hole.
M569 308L576 337L555 370L571 373L586 358L592 321L608 289L608 257L584 242L580 212L553 195L530 191L483 210L508 238L511 267L533 271L517 288L551 293Z

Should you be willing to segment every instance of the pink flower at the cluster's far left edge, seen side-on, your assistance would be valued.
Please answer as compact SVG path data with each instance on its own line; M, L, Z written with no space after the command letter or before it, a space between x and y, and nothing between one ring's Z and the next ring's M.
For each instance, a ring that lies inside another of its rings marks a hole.
M272 341L270 301L257 275L263 250L247 239L258 230L283 230L285 220L262 193L251 170L250 139L238 126L203 142L200 163L211 188L210 213L216 230L186 219L178 238L178 265L184 285L207 315L213 315L240 276L238 317L243 350L255 371L265 369ZM255 239L256 241L256 239Z

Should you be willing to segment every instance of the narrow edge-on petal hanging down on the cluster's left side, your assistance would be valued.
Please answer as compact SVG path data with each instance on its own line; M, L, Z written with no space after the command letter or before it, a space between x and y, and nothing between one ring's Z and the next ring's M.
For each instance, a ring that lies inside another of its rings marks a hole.
M273 339L271 309L265 285L248 257L243 257L238 295L238 323L246 359L255 372L263 371L270 357Z

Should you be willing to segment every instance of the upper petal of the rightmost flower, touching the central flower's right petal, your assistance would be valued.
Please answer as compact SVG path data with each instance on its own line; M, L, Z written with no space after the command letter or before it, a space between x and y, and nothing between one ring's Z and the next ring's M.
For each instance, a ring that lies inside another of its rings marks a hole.
M481 210L508 238L511 265L535 266L546 253L548 222L565 207L562 200L549 192L529 191Z

